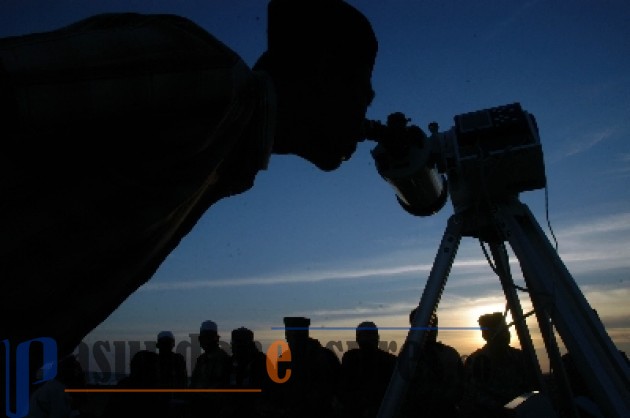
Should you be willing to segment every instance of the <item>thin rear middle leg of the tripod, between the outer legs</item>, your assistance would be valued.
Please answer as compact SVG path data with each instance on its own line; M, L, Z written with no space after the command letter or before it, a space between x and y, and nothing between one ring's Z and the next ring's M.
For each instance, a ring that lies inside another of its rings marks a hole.
M531 366L531 370L533 371L532 377L538 382L541 392L548 394L542 377L542 371L540 370L540 362L538 361L536 351L534 350L534 343L532 342L532 337L529 333L529 329L527 328L527 323L525 322L523 308L521 307L520 299L516 293L516 288L514 287L514 279L512 278L512 274L510 272L510 264L505 244L503 242L491 242L490 251L492 252L492 256L494 258L495 267L497 269L499 279L501 280L501 286L503 287L503 293L505 293L508 307L512 312L514 326L516 327L516 333L518 334L521 348L523 349L523 352L527 357L527 361Z

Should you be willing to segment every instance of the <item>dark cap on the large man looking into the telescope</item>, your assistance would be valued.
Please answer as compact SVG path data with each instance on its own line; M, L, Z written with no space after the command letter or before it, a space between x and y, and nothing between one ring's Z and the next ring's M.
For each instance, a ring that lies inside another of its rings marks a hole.
M297 65L325 52L339 63L372 68L378 42L367 18L342 0L271 0L268 51Z

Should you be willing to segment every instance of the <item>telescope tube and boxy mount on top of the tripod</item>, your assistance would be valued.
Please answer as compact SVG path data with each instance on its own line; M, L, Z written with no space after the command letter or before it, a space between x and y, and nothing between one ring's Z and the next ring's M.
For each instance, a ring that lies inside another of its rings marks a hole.
M438 212L447 195L458 213L546 184L536 120L519 103L457 115L445 132L433 122L430 136L409 121L392 113L385 125L366 121L365 134L378 142L372 157L379 174L413 215Z

